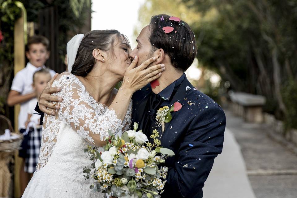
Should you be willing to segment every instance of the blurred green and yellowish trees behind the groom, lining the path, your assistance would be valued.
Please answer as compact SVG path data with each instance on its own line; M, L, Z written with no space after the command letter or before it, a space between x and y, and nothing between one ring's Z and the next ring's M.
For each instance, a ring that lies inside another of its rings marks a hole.
M214 99L228 90L264 95L265 111L297 128L296 0L148 0L139 13L140 27L160 13L188 22L201 78L209 70L221 77L219 86L192 80L204 93Z

